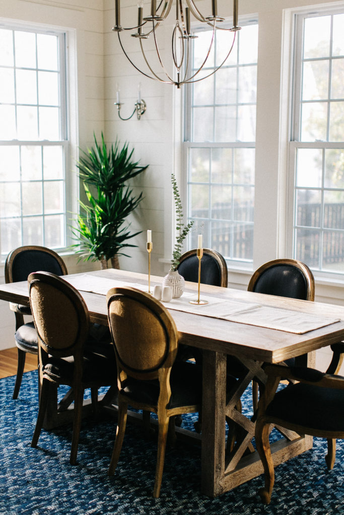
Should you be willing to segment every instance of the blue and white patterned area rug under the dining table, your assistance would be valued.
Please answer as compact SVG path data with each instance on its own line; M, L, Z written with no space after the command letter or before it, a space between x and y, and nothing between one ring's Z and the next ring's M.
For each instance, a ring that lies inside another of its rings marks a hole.
M71 427L42 431L39 448L30 440L37 416L37 372L24 374L19 399L15 377L0 380L1 515L344 515L344 444L337 442L335 467L327 472L326 443L276 468L269 506L257 492L263 475L217 499L200 493L200 448L179 442L167 450L160 499L153 499L156 443L128 424L120 461L107 476L113 421L83 423L77 465L69 465ZM250 393L248 393L248 399ZM184 417L192 426L194 419Z

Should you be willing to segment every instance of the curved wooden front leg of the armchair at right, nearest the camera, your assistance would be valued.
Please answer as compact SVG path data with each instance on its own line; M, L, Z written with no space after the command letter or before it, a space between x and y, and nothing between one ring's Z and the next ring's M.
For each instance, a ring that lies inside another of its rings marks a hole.
M264 504L269 504L271 499L271 492L275 479L273 468L273 461L271 456L270 442L269 442L270 424L259 422L256 424L255 440L257 451L264 467L265 474L265 487L259 491L261 501Z

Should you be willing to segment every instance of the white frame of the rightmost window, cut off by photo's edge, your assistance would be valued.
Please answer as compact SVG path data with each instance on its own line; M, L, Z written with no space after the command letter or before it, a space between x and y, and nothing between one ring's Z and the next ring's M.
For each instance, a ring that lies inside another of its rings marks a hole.
M297 150L302 148L307 149L331 149L331 148L343 148L344 141L342 142L301 142L299 141L300 133L300 102L301 102L301 88L302 88L302 37L303 37L303 20L305 18L311 18L315 16L325 16L331 14L344 13L344 3L341 5L327 5L327 6L312 6L307 9L298 9L293 12L293 34L292 34L292 45L293 45L293 58L291 59L290 77L291 77L291 106L290 106L290 140L289 144L289 155L288 155L288 192L287 192L287 243L286 250L287 254L296 259L296 248L294 235L296 227L296 160ZM327 121L327 124L329 121ZM321 186L321 192L323 192L323 186ZM326 188L327 189L327 188ZM312 268L312 267L311 267ZM338 273L330 270L318 270L314 269L314 275L320 280L332 281L344 281L344 270L343 273Z

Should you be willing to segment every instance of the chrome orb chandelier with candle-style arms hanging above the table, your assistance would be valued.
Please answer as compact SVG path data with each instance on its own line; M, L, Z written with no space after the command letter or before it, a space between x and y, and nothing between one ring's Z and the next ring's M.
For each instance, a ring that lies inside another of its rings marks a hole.
M143 0L138 0L137 24L134 24L135 26L132 27L122 27L120 0L115 0L116 24L112 30L117 32L121 48L126 58L138 72L150 79L166 84L174 84L177 88L180 88L182 84L197 82L209 77L210 75L213 75L219 70L219 68L221 68L228 56L231 54L235 42L236 31L240 30L240 27L238 27L238 0L233 0L233 27L231 28L221 27L221 23L224 22L224 18L218 16L217 0L211 0L211 15L209 16L204 16L200 12L200 10L196 7L194 0L176 0L175 22L173 25L171 38L172 71L168 71L159 50L157 33L159 32L158 29L160 25L162 26L163 22L168 18L172 4L173 0L160 0L158 5L157 0L151 0L150 15L144 17ZM191 41L197 38L197 36L194 36L190 30L190 15L192 15L196 22L199 24L202 23L204 25L208 25L212 29L212 36L209 46L206 49L204 60L202 61L202 64L199 66L199 68L191 71L189 67ZM233 32L233 37L230 38L228 52L221 64L217 65L215 69L212 67L211 71L209 71L209 69L206 71L206 63L214 45L216 30ZM124 49L124 45L121 39L121 33L123 31L132 31L131 36L138 39L142 56L147 66L146 71L142 70L138 65L136 65ZM150 36L152 36L154 39L155 53L157 54L157 63L159 65L158 71L154 70L154 65L149 61L148 56L151 53L151 49L149 49L149 52L145 52L144 49L144 40L148 39ZM203 74L200 73L202 70L204 70Z

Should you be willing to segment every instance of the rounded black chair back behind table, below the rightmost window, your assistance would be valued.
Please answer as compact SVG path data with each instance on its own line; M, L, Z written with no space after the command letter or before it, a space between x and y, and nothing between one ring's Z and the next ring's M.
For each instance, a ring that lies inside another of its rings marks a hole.
M290 299L314 300L313 273L300 261L270 261L254 272L248 290Z

